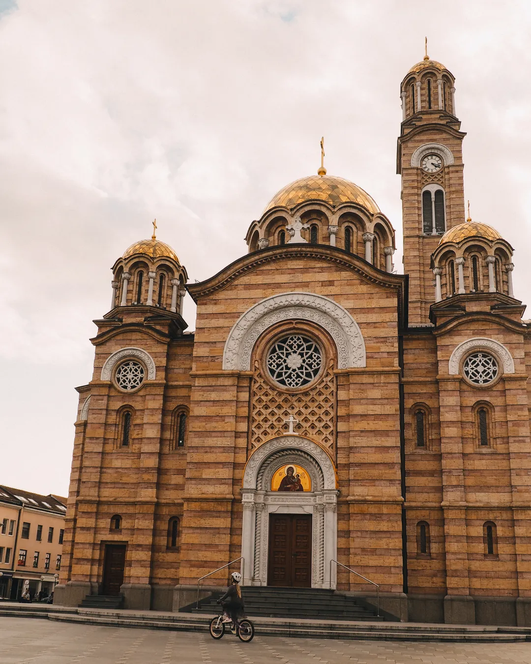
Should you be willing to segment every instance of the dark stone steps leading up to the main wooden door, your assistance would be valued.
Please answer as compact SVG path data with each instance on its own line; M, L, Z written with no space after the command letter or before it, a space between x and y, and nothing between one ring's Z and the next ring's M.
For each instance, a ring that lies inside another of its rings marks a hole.
M199 608L183 607L181 611L192 614L216 614L220 606L216 600L222 593L214 593L200 601ZM382 621L376 608L365 606L359 598L325 588L273 588L271 586L244 586L242 598L248 616L264 618L291 618L315 620Z

